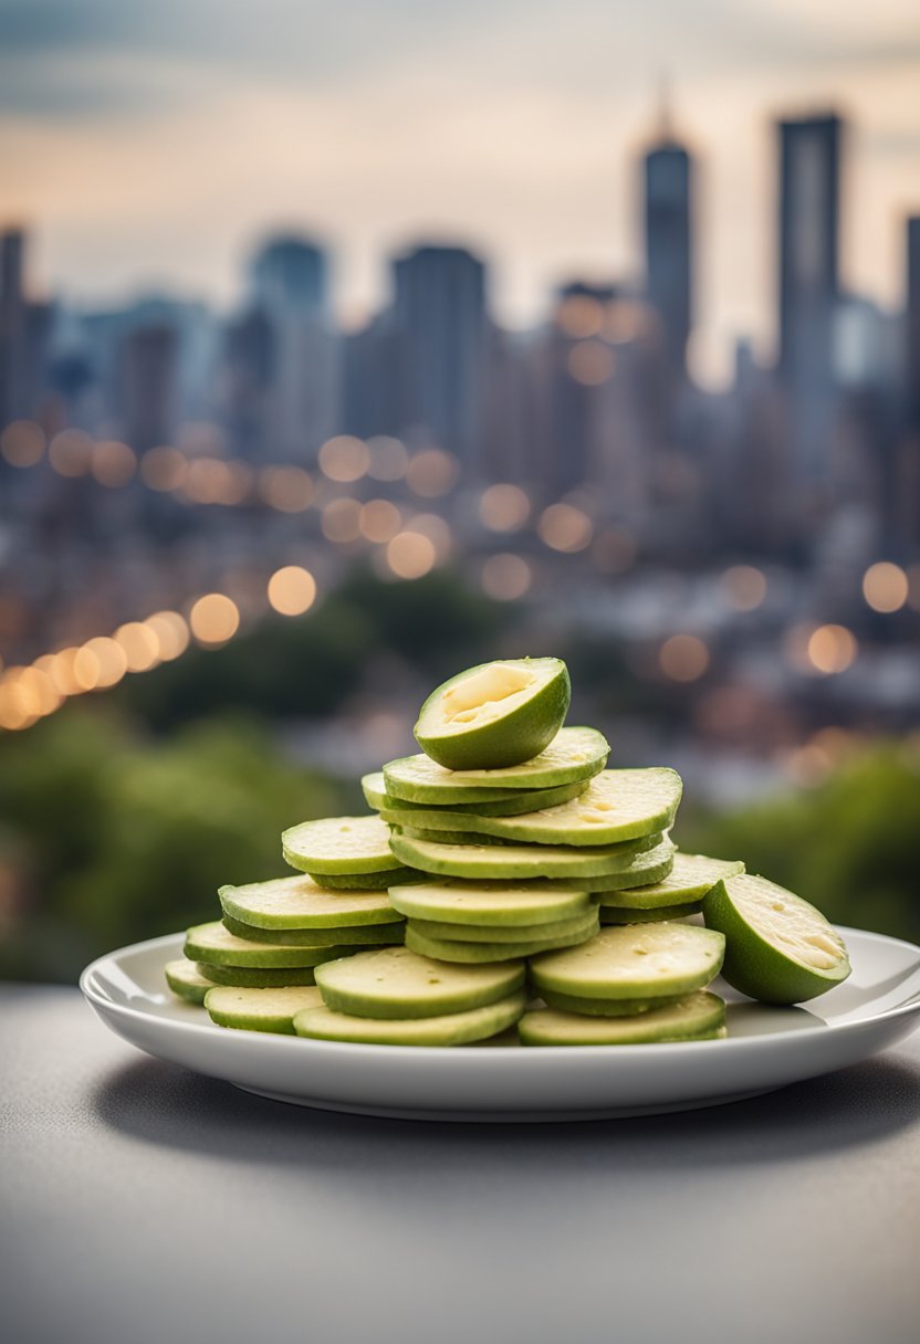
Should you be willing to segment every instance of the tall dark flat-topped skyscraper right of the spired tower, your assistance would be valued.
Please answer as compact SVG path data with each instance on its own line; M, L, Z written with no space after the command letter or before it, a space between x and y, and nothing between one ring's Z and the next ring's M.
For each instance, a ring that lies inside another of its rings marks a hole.
M839 294L842 122L833 113L779 124L779 370L790 403L794 470L827 466Z

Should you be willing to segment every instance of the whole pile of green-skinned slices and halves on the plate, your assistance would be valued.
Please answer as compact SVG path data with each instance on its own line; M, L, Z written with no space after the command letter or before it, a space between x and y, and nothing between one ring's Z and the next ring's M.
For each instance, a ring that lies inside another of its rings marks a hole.
M558 659L471 668L416 724L421 754L362 780L375 810L284 832L296 876L222 887L175 993L223 1027L452 1046L518 1024L526 1046L725 1035L722 972L769 1003L849 974L823 915L670 839L681 778L607 769L564 727ZM702 919L701 919L702 917Z

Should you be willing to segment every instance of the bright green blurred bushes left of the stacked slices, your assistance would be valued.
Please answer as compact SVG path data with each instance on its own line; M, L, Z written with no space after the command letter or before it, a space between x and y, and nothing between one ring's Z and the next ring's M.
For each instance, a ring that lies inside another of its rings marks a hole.
M109 948L213 919L285 872L280 833L354 806L243 722L165 742L69 707L0 743L0 973L73 980Z

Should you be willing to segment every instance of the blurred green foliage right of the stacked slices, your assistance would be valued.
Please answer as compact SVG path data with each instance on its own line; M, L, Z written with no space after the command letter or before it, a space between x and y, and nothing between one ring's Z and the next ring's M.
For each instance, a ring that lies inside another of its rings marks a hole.
M920 942L920 757L882 743L818 788L728 813L687 800L675 837L683 849L744 859L811 900L835 923Z

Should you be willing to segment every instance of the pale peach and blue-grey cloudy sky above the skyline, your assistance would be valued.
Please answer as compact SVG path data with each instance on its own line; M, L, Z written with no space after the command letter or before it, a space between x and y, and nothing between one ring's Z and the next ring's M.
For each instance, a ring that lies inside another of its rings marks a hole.
M0 222L93 302L221 302L260 233L335 254L355 321L420 237L492 263L499 316L572 274L639 274L636 155L662 71L699 157L695 355L772 340L771 118L849 118L847 282L903 285L920 214L920 4L872 0L0 0Z

